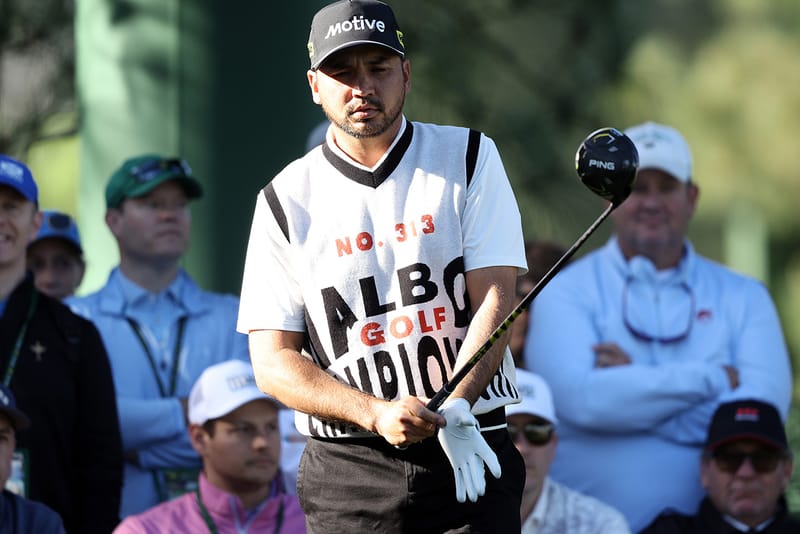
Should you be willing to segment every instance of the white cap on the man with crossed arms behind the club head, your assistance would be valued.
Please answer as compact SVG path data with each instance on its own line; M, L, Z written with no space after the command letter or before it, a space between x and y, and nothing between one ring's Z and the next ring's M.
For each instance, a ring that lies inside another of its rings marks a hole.
M625 130L639 152L639 170L658 169L679 182L692 178L692 152L683 136L670 126L645 122Z

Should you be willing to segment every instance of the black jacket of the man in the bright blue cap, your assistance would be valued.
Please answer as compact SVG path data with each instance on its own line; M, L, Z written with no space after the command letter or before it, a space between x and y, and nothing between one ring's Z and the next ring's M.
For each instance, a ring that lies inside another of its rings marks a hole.
M0 379L31 303L29 275L0 317ZM97 329L38 292L11 389L31 427L17 432L29 454L27 496L64 520L70 533L109 533L119 522L122 440L114 383Z

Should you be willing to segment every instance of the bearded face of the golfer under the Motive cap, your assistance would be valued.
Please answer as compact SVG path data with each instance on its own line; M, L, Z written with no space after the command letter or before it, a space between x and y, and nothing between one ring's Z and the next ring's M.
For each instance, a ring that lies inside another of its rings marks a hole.
M357 139L378 137L398 125L410 80L408 61L376 45L345 48L308 71L314 102Z

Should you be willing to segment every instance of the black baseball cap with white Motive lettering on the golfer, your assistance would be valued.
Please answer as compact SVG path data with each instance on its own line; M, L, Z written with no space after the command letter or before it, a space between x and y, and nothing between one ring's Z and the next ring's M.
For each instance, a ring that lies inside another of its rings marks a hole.
M334 52L361 44L385 46L405 57L403 32L391 7L377 0L341 0L323 7L308 36L311 70Z

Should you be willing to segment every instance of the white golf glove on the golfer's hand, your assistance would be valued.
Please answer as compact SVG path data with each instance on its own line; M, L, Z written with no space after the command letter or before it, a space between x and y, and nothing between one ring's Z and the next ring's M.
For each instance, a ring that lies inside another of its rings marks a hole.
M495 478L500 478L500 462L497 455L481 436L478 421L470 411L466 399L446 401L439 413L447 419L447 426L437 433L439 443L453 466L456 480L456 499L465 502L467 497L476 502L486 493L486 478L483 464Z

